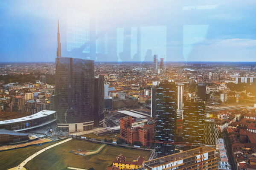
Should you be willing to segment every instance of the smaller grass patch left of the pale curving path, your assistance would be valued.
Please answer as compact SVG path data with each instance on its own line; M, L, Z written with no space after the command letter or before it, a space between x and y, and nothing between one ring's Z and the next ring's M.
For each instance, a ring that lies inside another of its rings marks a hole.
M20 149L2 151L0 152L0 169L7 170L15 167L35 152L55 143L56 142L50 142L43 144L42 146L29 146Z

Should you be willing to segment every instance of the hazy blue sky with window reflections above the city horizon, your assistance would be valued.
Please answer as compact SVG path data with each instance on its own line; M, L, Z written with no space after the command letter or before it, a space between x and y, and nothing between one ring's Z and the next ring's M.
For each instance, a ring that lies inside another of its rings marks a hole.
M96 54L67 51L92 31L84 30L88 25L80 13L103 32ZM58 20L66 57L150 61L151 50L166 61L256 61L255 0L8 0L0 1L0 16L1 62L54 62ZM75 28L70 16L76 16ZM67 34L67 28L75 32Z

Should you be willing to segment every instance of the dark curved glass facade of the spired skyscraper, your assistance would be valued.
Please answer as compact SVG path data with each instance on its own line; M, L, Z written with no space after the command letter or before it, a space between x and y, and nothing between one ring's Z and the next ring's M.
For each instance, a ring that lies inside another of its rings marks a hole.
M94 119L94 61L56 58L55 110L58 123L91 122Z

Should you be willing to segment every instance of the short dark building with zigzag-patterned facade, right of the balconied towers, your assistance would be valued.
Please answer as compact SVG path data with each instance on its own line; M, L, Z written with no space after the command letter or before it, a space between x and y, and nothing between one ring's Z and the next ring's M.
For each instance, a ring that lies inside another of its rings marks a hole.
M204 144L215 145L219 130L214 119L204 119Z

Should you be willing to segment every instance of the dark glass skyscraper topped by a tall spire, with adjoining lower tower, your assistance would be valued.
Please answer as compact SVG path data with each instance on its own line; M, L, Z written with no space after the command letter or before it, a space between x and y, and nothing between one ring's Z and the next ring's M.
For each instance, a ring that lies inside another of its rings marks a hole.
M94 79L93 60L61 57L60 46L58 29L54 97L58 130L74 132L102 125L104 77Z

